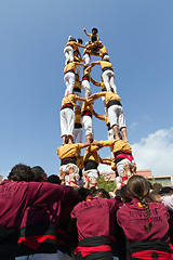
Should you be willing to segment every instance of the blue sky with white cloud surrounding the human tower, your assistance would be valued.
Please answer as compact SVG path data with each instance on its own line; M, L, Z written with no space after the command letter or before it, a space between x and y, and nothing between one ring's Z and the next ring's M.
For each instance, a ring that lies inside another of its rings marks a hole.
M172 174L172 0L0 1L0 173L18 162L58 173L63 50L69 35L85 42L83 27L97 27L115 68L137 168ZM99 67L92 77L99 80ZM94 108L104 113L102 101ZM95 118L94 132L107 139L105 123ZM109 150L101 156L110 156Z

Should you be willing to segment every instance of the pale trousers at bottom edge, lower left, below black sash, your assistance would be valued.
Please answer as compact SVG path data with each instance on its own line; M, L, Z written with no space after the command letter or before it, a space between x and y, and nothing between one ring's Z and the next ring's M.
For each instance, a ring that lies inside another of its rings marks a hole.
M57 253L34 253L30 256L16 257L15 260L59 260Z

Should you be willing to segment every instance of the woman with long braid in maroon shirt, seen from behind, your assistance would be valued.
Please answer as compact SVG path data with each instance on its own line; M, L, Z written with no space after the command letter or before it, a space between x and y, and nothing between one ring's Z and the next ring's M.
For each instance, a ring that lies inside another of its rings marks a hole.
M149 184L141 176L131 177L127 190L133 199L118 210L117 220L128 239L129 259L172 259L167 208L148 202Z

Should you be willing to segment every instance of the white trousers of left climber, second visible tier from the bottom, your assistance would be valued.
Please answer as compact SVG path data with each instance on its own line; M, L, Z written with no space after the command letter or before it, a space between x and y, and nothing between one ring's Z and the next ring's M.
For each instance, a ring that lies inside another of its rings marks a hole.
M61 130L63 135L74 136L75 113L71 108L64 108L61 110Z

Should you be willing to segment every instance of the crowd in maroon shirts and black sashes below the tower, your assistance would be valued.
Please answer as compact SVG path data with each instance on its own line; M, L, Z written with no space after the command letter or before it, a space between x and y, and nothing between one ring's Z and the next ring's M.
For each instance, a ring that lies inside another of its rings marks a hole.
M115 192L16 165L0 184L0 259L173 259L173 188L134 174Z

